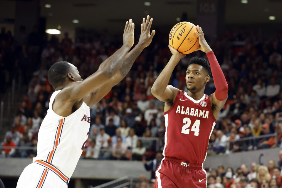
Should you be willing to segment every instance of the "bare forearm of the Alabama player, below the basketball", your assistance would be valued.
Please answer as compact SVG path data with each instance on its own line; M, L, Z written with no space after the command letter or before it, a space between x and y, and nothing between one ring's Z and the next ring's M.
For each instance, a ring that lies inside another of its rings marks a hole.
M163 93L164 90L167 88L167 85L169 83L169 79L171 77L172 71L174 70L177 63L180 61L180 58L177 58L176 56L171 56L169 62L164 67L160 75L155 80L152 90L154 90L154 93Z

